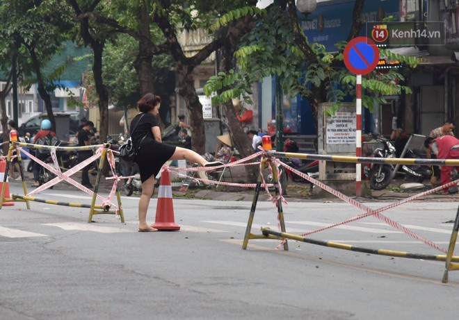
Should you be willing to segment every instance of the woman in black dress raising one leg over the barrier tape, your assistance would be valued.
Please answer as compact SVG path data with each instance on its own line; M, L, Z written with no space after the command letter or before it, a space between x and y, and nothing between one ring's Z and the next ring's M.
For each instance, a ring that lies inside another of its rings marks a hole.
M138 230L156 231L147 224L147 209L154 192L154 178L168 160L188 160L202 167L221 165L221 162L208 162L198 153L179 146L161 143L161 130L156 116L161 107L161 98L152 93L145 94L137 101L140 113L131 121L131 138L137 150L136 163L142 181L142 195L138 203Z

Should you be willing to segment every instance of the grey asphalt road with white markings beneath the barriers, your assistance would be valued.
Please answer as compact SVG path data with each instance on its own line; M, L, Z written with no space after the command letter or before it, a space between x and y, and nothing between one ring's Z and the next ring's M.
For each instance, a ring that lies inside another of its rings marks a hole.
M11 184L11 193L19 193ZM68 188L67 188L68 189ZM90 203L83 192L38 197ZM3 319L447 319L456 317L459 272L444 262L392 258L289 241L241 249L248 201L174 200L181 230L138 233L138 198L122 197L126 224L88 209L24 203L0 210ZM379 208L387 203L365 203ZM154 222L156 198L150 203ZM383 212L447 248L458 203L418 202ZM284 205L287 231L305 233L362 214L341 202ZM252 233L277 229L273 203L257 204ZM312 239L370 249L443 254L375 217Z

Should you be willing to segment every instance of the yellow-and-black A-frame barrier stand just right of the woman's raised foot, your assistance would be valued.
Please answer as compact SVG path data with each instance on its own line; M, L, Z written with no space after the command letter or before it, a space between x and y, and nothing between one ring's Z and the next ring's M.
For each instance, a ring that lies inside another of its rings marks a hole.
M282 230L282 233L285 233L285 221L284 221L284 212L282 210L282 199L280 198L280 192L279 192L279 177L277 176L277 168L275 167L275 163L271 161L271 158L261 158L260 166L261 166L261 171L258 175L258 181L257 185L255 186L255 194L253 196L253 201L252 201L252 208L250 208L250 214L249 218L247 221L247 228L245 229L245 236L242 244L242 249L246 250L248 246L248 241L249 239L281 239L284 240L284 238L280 237L275 237L271 235L254 235L253 233L250 233L252 230L252 224L253 224L253 218L255 216L255 209L257 208L257 201L258 201L258 196L259 192L261 190L261 183L263 183L263 176L262 172L264 169L266 169L266 164L269 164L271 166L271 169L273 171L273 184L274 184L274 190L275 190L275 196L278 197L277 199L277 215L279 217L279 223L280 223L280 230ZM284 250L289 250L289 244L287 244L287 240L284 242Z

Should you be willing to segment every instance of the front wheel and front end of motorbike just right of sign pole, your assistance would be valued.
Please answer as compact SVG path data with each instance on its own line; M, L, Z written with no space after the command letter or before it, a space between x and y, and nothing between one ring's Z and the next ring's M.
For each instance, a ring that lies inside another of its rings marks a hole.
M394 158L395 147L384 137L377 137L378 142L383 143L383 148L376 148L371 157L373 158ZM385 189L394 178L394 167L387 163L369 163L364 167L364 175L370 180L370 187L373 190Z

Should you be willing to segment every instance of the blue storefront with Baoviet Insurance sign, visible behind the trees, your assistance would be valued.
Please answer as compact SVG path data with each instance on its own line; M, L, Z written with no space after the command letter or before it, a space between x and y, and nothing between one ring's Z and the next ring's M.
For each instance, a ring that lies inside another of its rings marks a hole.
M332 0L318 3L316 10L307 15L300 15L300 24L305 31L309 42L323 44L329 52L337 51L335 44L346 40L353 22L354 0ZM362 19L367 22L382 21L385 17L392 16L398 20L400 3L398 0L372 0L365 1ZM345 14L343 12L346 12ZM362 28L361 35L366 35ZM268 124L275 119L275 83L272 78L266 78L259 85L259 121L262 128L267 130ZM398 97L396 97L398 100ZM351 100L352 101L352 100ZM324 101L325 102L325 101ZM316 135L316 122L314 108L302 96L287 97L282 99L284 110L284 132L299 133L301 135ZM377 106L377 108L379 108ZM385 114L385 112L384 112ZM378 119L373 119L373 114L364 110L364 130L373 131L378 127ZM390 117L392 121L392 117ZM385 124L380 124L385 126Z

